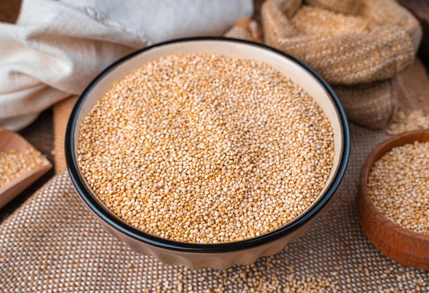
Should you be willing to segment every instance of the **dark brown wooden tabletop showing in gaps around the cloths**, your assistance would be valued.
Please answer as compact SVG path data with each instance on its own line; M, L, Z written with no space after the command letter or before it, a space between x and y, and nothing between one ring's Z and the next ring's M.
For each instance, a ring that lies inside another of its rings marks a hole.
M260 5L263 0L254 0L255 19L260 21ZM421 43L419 56L424 62L426 69L429 71L429 3L427 0L400 0L406 8L415 12L420 19L424 30L424 40ZM21 0L0 0L0 21L13 23L19 13ZM42 154L45 154L49 161L55 163L55 154L53 154L53 115L52 109L49 108L42 112L38 119L30 126L19 132L25 139L32 143ZM28 187L22 194L14 198L3 209L0 209L0 222L16 210L29 196L34 194L42 185L52 178L55 169L51 169L47 174L42 176L36 183Z

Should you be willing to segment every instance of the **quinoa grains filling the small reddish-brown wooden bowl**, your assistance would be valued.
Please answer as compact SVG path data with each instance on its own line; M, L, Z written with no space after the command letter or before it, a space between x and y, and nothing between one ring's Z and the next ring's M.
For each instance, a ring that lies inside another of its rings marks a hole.
M429 235L429 142L393 148L374 163L369 197L390 220Z

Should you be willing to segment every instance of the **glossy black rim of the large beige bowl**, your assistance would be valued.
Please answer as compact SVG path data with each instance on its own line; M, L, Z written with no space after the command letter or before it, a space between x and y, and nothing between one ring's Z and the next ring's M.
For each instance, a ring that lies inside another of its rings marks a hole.
M148 51L150 49L154 49L156 47L160 47L171 43L182 43L182 42L188 42L188 41L236 42L236 43L243 43L246 45L260 47L268 51L274 52L275 54L279 54L280 56L289 58L293 62L296 62L298 65L306 69L308 73L313 75L313 77L315 77L321 83L321 85L324 87L324 89L328 92L328 94L332 98L332 101L336 106L336 110L338 111L339 118L341 119L341 126L342 126L342 132L343 132L343 152L340 157L339 168L337 169L337 172L334 175L334 178L330 183L330 186L326 189L326 193L323 194L323 196L321 196L319 200L315 202L315 204L313 204L310 208L304 211L302 215L299 216L299 218L297 218L296 220L293 220L293 222L291 222L290 224L286 224L285 226L282 226L269 233L262 234L258 237L249 238L238 242L224 242L224 243L217 243L217 244L193 244L193 243L187 243L187 242L177 242L177 241L157 237L155 235L145 233L141 230L138 230L137 228L132 227L130 224L127 224L126 222L118 218L116 215L114 215L112 212L108 212L106 208L101 206L98 200L93 198L93 196L91 195L91 192L87 190L86 185L83 182L84 178L80 175L79 167L77 166L75 152L73 151L75 148L73 137L75 135L75 127L77 124L76 120L79 115L79 111L82 108L82 105L84 104L88 93L90 93L93 87L100 80L102 80L104 76L108 75L110 71L115 69L118 65L120 65L125 60L133 58L138 54L142 54L143 52ZM285 54L284 52L279 51L278 49L274 49L273 47L262 45L260 43L254 43L248 40L239 40L234 38L223 38L223 37L180 38L175 40L169 40L163 43L158 43L156 45L152 45L149 47L145 47L143 49L139 49L138 51L134 51L132 54L129 54L117 60L112 65L104 69L92 82L90 82L90 84L86 87L86 89L82 92L82 94L77 99L77 102L71 112L71 115L67 124L67 128L66 128L64 148L65 148L64 153L66 157L66 164L68 167L68 171L71 176L73 185L75 185L75 188L78 191L78 194L82 197L82 199L86 202L86 204L88 204L88 207L90 207L90 209L92 209L99 216L99 218L101 218L104 222L108 223L113 228L117 229L118 231L120 231L121 233L124 233L129 237L137 239L140 242L145 242L146 244L150 244L152 246L157 246L160 248L167 248L169 250L179 250L182 252L198 252L198 253L226 253L226 252L232 252L236 250L245 250L248 248L253 248L256 246L260 246L262 244L273 242L274 240L280 239L285 235L289 235L290 233L295 231L303 224L306 224L308 220L315 217L315 215L317 215L317 213L319 213L319 211L321 211L321 209L323 209L323 207L325 207L326 204L328 204L328 202L336 192L336 189L339 188L341 180L343 180L345 170L347 168L347 163L349 161L349 156L350 156L350 130L348 127L347 118L345 116L343 107L341 106L341 103L339 102L338 97L336 97L334 91L332 91L328 83L325 82L325 80L323 80L315 71L313 71L310 67L308 67L308 65L305 65L303 62L297 60L293 56L290 56L289 54Z

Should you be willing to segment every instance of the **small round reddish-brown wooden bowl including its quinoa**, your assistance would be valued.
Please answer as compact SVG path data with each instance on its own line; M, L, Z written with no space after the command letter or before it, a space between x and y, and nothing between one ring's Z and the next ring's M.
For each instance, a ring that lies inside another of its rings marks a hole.
M371 243L391 259L429 270L429 130L396 134L367 156L358 214Z

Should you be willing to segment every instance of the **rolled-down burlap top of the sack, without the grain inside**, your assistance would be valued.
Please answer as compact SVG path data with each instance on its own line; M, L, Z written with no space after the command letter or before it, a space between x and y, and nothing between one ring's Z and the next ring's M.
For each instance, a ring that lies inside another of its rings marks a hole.
M341 7L336 3L342 1L310 2L323 3L324 8L335 11ZM330 84L393 78L414 60L421 40L419 22L394 0L353 3L365 3L360 15L371 23L370 32L317 36L300 35L291 24L301 0L267 0L261 10L265 43L306 62Z

